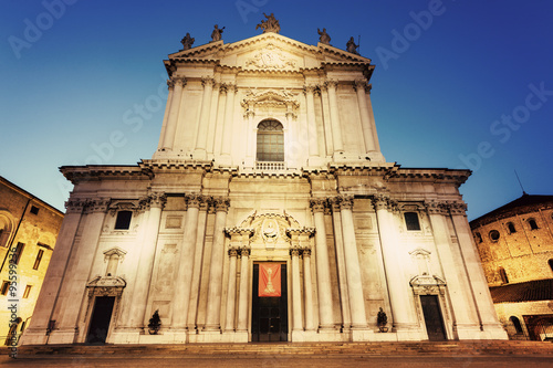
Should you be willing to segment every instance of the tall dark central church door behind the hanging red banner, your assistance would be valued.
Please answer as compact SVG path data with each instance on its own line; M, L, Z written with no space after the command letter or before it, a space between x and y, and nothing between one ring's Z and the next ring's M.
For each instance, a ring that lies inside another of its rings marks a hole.
M288 341L286 264L281 264L281 296L259 296L259 264L253 264L252 291L251 340Z

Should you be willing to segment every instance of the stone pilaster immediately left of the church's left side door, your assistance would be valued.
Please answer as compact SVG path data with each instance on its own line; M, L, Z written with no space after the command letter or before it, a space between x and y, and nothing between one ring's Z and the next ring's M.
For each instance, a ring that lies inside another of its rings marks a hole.
M62 307L58 316L61 340L52 336L52 344L75 343L73 338L76 336L73 336L73 334L75 334L75 327L77 327L81 303L86 292L86 283L90 281L91 267L96 254L108 204L109 199L105 198L90 200L86 203L86 222L83 227L80 242L74 244L76 254L70 260L64 277L64 285L62 285L59 296L62 301Z

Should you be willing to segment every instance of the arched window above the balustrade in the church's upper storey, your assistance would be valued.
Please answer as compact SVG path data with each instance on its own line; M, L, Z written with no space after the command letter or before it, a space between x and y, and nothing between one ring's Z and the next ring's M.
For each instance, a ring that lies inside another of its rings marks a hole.
M276 120L258 125L258 161L284 161L284 132Z

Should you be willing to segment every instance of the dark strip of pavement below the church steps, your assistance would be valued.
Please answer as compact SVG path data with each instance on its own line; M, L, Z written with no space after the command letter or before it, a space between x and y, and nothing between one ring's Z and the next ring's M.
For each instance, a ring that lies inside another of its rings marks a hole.
M553 367L551 356L45 356L13 359L0 356L10 367Z

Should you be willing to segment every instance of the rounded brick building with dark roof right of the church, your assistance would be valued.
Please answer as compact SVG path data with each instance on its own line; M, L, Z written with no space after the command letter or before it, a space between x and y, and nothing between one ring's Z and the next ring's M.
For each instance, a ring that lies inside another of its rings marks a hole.
M470 222L511 339L553 339L553 196L522 197Z

